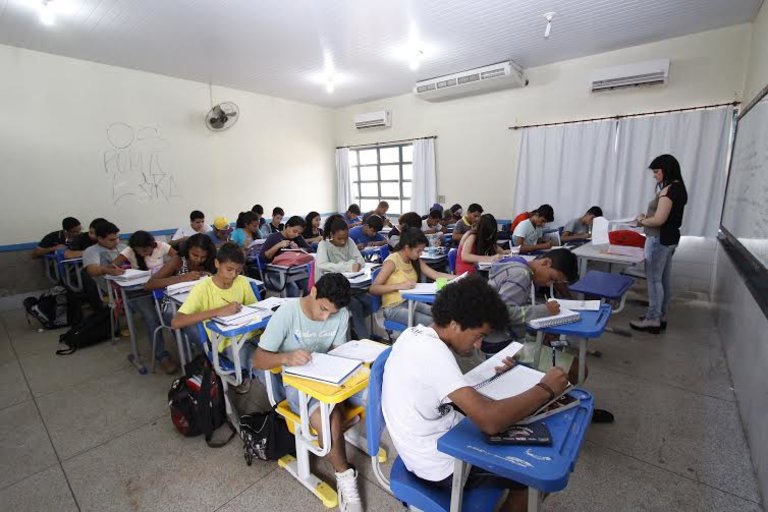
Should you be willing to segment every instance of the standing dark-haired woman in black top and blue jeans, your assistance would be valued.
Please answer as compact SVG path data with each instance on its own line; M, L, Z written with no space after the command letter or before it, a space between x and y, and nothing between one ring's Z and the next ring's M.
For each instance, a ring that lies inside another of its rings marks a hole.
M667 311L672 298L672 255L680 242L680 225L688 202L680 164L672 155L657 156L648 166L656 180L656 197L645 215L637 217L645 228L645 276L648 284L648 311L629 322L632 329L658 334L667 328Z

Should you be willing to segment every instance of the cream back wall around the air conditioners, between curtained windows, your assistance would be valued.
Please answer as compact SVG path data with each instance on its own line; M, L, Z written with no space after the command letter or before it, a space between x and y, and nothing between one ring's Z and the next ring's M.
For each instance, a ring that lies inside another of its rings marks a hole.
M336 143L437 135L438 194L448 204L466 207L476 201L497 217L509 218L516 213L512 201L520 131L507 127L740 99L749 34L750 25L744 24L531 68L524 89L442 103L406 94L354 105L336 112ZM672 61L665 87L589 92L595 68L662 57ZM355 130L354 115L381 109L392 111L391 128Z

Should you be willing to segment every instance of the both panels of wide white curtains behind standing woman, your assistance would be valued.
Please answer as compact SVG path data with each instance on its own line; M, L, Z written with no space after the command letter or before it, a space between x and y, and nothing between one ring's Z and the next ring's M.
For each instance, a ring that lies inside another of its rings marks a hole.
M682 233L714 236L720 220L733 108L527 128L515 213L549 203L553 225L599 205L609 219L645 213L654 196L648 164L669 153L688 189Z

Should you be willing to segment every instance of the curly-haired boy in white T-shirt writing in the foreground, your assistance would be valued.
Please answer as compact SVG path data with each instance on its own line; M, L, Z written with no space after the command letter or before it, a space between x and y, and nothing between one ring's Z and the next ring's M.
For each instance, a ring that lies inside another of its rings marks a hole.
M471 353L484 336L506 323L503 302L479 276L446 286L432 312L434 323L407 329L393 345L384 367L381 407L406 468L447 490L452 486L454 459L437 450L437 440L464 415L484 433L496 434L562 393L568 381L565 372L552 368L532 388L502 400L486 398L467 383L454 353ZM514 361L508 358L496 371L512 366ZM524 485L480 468L472 468L464 488L488 484L509 489L501 510L527 510Z

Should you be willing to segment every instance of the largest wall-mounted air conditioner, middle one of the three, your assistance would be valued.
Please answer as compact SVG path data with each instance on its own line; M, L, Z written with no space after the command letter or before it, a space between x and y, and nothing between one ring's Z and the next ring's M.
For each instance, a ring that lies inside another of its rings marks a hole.
M442 101L526 85L522 68L510 60L421 80L416 82L413 93L424 100Z

